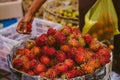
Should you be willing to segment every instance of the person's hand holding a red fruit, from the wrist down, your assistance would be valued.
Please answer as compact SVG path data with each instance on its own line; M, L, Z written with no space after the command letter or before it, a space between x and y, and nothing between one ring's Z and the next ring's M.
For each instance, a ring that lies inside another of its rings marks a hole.
M33 17L26 14L18 23L16 31L20 34L30 34L32 31L32 21Z

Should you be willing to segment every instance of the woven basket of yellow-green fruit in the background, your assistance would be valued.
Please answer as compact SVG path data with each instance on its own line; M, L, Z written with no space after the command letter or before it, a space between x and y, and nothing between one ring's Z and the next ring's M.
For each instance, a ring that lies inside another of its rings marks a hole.
M78 0L51 0L43 8L43 19L78 27Z

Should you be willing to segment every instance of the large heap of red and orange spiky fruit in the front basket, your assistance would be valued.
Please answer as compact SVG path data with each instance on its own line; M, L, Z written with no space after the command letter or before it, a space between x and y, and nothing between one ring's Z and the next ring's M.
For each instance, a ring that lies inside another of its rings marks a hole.
M111 62L107 46L68 26L59 30L49 28L17 45L10 56L12 69L48 80L81 80L82 76L87 76L83 77L85 80L101 80L108 73L105 66Z

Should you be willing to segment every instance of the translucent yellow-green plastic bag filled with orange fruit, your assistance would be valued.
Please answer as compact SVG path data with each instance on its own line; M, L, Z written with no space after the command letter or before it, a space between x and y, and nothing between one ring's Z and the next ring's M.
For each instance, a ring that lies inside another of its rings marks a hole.
M112 0L97 0L85 15L82 33L89 33L100 41L119 34L118 18Z

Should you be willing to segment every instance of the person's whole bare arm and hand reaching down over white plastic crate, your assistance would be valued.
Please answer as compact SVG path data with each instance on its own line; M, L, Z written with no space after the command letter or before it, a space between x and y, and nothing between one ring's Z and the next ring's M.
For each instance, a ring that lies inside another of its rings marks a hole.
M33 0L33 3L29 7L27 13L22 18L22 20L18 23L16 31L20 34L29 34L30 31L27 31L27 24L31 24L33 21L33 17L36 11L44 4L46 0Z

